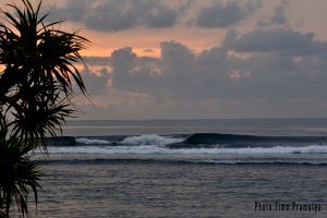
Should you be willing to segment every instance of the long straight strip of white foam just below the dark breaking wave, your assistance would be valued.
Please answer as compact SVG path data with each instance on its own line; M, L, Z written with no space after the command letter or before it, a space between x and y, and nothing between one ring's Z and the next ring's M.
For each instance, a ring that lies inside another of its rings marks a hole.
M182 148L170 149L160 145L137 146L71 146L48 147L48 152L61 154L327 154L327 146L256 147L256 148Z

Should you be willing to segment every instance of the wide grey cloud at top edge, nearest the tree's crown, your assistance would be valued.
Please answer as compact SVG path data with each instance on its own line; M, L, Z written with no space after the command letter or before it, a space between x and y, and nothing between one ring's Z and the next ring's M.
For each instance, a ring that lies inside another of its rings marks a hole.
M181 5L170 7L165 0L68 0L52 8L51 17L66 17L89 29L113 32L138 26L171 27L181 10Z

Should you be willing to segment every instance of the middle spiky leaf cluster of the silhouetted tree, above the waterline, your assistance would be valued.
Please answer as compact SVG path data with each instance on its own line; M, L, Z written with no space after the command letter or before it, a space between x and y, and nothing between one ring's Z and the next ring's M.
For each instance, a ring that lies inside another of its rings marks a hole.
M37 143L45 145L43 141L45 136L55 137L57 131L61 131L61 123L64 123L65 118L70 117L74 109L69 105L66 98L60 97L56 86L41 86L32 89L34 95L31 93L27 96L19 95L19 99L26 107L12 113L15 119L9 125L13 126L12 136L14 138L35 138L33 142L35 145ZM31 96L33 99L28 99Z

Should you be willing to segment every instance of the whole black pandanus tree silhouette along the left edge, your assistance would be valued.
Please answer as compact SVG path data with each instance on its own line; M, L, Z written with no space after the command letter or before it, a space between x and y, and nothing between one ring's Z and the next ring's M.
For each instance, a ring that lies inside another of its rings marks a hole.
M74 64L83 63L80 51L89 41L56 28L61 22L47 24L41 2L21 1L22 9L8 4L12 11L1 11L0 22L0 217L9 217L13 199L27 215L31 192L37 203L41 172L28 154L46 150L46 137L76 110L74 90L87 95Z

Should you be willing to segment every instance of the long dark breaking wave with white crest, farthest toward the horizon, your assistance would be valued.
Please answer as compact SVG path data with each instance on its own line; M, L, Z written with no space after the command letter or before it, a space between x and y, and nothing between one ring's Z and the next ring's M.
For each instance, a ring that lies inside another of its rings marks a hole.
M327 136L256 136L220 133L195 133L192 135L128 135L72 137L48 140L50 145L160 145L169 148L247 148L247 147L301 147L327 145Z

